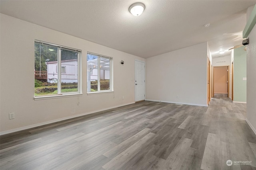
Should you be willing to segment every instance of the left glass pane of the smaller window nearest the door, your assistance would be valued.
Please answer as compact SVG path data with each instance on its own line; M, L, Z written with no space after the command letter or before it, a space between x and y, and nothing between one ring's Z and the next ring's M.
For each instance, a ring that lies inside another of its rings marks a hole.
M87 91L98 91L98 56L87 54Z

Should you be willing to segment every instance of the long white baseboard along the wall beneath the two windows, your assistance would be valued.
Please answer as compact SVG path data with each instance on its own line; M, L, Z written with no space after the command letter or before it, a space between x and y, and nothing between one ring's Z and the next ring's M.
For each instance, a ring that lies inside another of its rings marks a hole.
M58 121L68 120L68 119L72 119L72 118L76 118L76 117L80 117L80 116L84 116L84 115L89 115L89 114L92 114L92 113L97 113L99 111L104 111L104 110L108 110L108 109L114 109L116 107L126 106L126 105L134 104L134 103L135 102L131 102L131 103L122 104L122 105L113 106L113 107L108 107L108 108L104 108L104 109L100 109L100 110L90 111L90 112L82 113L82 114L79 114L79 115L73 115L73 116L63 117L63 118L60 118L60 119L55 119L55 120L51 120L51 121L37 123L37 124L34 124L34 125L28 125L28 126L24 126L24 127L19 127L19 128L11 129L11 130L8 130L8 131L2 131L2 132L0 132L0 136L1 135L6 135L8 133L14 133L14 132L18 132L18 131L23 131L23 130L26 130L26 129L30 129L30 128L34 128L34 127L38 127L38 126L42 126L42 125L47 125L47 124L50 124L50 123L55 123L55 122L58 122Z

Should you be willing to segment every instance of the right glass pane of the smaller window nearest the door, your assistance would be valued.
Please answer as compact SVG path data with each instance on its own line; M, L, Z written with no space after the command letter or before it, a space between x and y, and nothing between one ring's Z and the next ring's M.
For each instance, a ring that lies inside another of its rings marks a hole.
M100 90L110 90L110 59L100 57Z

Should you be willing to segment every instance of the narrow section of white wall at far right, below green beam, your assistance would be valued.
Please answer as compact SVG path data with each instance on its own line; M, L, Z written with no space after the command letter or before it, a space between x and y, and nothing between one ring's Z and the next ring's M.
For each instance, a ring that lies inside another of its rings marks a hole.
M248 10L252 10L249 8ZM250 44L247 45L247 93L246 93L246 106L247 114L246 121L256 133L256 25L248 35Z

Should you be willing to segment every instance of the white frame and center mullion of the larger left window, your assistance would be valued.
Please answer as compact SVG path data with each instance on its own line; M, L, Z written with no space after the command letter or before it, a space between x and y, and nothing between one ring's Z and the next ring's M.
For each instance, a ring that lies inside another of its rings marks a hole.
M81 74L82 73L82 67L81 67L82 50L73 49L70 47L65 47L65 46L56 45L56 44L52 44L52 43L47 43L47 42L39 41L39 40L35 40L34 43L41 43L43 45L51 45L51 46L58 48L58 65L57 65L58 69L57 70L61 70L62 67L65 67L65 66L61 65L61 49L77 52L77 62L78 62L78 84L77 84L78 91L77 92L64 92L64 93L60 92L61 91L61 73L60 73L60 74L58 74L58 82L57 82L58 83L58 93L52 94L52 95L34 96L34 100L82 96L82 74ZM65 67L65 72L66 72L66 67Z

